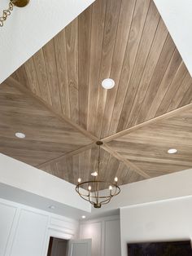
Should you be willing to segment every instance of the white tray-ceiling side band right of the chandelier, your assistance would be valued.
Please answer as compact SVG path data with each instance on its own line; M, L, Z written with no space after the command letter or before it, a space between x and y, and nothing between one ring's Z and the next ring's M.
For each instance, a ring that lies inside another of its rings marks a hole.
M120 195L103 205L100 213L128 205L162 201L192 195L192 169L120 186ZM92 213L97 209L92 208Z

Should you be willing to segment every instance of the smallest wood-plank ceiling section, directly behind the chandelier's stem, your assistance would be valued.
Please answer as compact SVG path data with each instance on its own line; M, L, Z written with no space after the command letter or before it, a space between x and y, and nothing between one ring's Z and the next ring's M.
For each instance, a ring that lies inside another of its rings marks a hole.
M41 169L74 184L77 183L77 179L80 177L82 180L92 180L91 173L98 169L98 147L93 147L73 156L63 157L62 160L43 166ZM120 178L120 185L144 179L141 175L135 173L132 168L101 149L99 179L113 182L116 175ZM100 189L107 188L107 186L100 187Z

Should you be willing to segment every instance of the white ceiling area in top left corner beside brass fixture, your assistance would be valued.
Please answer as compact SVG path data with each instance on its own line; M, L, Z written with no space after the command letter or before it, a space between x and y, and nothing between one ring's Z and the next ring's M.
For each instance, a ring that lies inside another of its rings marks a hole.
M9 0L0 1L0 13ZM30 0L15 7L0 28L0 83L85 10L94 0Z

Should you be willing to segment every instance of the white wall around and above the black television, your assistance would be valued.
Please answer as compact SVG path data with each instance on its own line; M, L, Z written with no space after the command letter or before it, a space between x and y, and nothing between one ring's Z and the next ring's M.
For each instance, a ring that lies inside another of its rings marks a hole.
M128 242L191 240L191 214L192 196L122 208L121 255Z

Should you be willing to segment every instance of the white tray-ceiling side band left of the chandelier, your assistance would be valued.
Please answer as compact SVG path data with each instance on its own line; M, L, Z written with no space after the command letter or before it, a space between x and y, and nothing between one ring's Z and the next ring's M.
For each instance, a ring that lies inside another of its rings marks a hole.
M79 210L91 211L76 187L63 179L0 153L0 183L48 198ZM3 197L3 195L1 196ZM6 199L6 198L5 198ZM14 201L14 199L13 199Z

